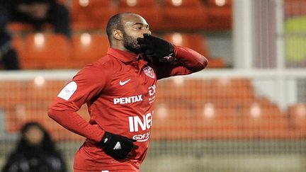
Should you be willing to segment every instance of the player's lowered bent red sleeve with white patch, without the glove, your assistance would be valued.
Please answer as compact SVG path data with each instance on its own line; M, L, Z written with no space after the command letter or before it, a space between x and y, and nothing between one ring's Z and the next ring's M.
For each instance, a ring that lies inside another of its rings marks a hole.
M102 91L106 79L96 79L97 73L98 69L82 69L59 93L55 103L48 110L48 115L67 130L100 142L104 134L101 127L90 124L77 113L81 105Z

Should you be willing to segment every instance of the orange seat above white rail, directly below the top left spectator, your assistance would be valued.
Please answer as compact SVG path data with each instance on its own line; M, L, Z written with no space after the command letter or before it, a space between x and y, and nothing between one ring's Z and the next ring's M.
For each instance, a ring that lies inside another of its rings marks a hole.
M73 68L72 44L60 34L35 33L26 36L20 53L23 69Z

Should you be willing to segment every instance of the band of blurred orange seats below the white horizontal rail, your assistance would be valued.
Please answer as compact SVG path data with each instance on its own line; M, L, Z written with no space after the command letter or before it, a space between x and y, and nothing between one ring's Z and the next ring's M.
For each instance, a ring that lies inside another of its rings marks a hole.
M18 132L27 121L42 122L57 140L81 140L47 117L47 108L67 81L1 81L0 108L6 132ZM306 137L306 105L283 112L254 94L248 79L159 81L152 139L301 139ZM241 90L244 94L238 92ZM246 93L247 90L248 92ZM250 94L250 95L249 95ZM236 100L236 101L235 101ZM79 113L89 120L86 106Z

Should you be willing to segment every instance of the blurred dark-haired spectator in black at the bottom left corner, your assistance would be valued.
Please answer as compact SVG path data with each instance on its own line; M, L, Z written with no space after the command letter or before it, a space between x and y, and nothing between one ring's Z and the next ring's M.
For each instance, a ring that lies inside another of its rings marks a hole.
M42 125L28 122L21 129L21 139L9 156L2 172L64 172L66 165Z

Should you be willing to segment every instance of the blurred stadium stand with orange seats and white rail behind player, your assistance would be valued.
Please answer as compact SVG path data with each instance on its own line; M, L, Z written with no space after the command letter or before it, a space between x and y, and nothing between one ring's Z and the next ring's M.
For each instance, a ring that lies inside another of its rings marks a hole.
M142 171L306 171L306 0L61 0L72 40L10 23L22 71L0 72L0 167L21 125L42 122L72 171L84 138L47 117L64 84L105 55L106 21L140 13L155 35L208 57L159 81ZM86 107L79 111L88 119Z

